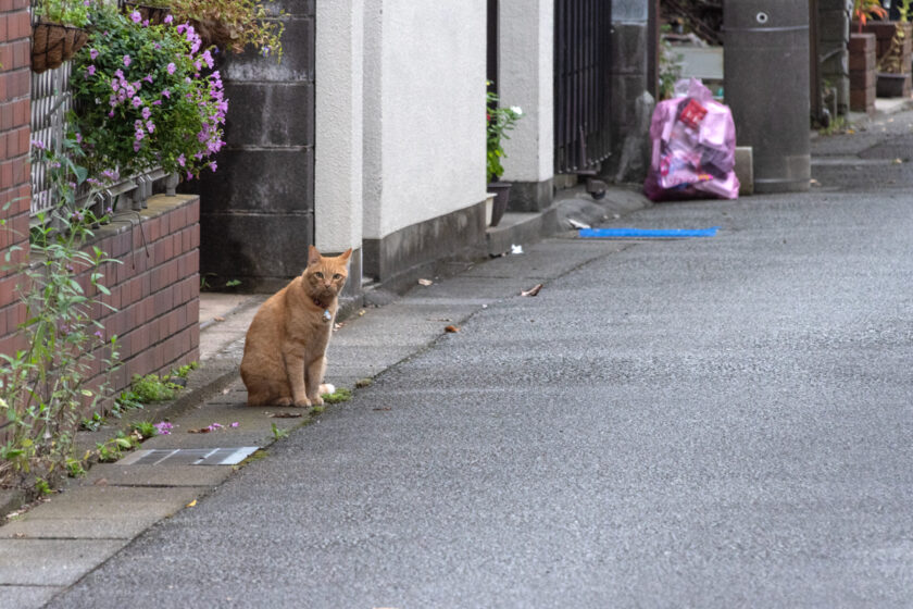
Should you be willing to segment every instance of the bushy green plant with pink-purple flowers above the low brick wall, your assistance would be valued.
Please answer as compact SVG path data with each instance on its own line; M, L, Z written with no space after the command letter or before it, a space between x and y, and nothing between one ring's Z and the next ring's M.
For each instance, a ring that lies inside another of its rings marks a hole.
M76 112L71 116L90 170L109 181L118 172L161 166L188 179L209 165L222 139L228 102L210 49L193 27L150 25L139 12L99 8L93 32L74 62Z

